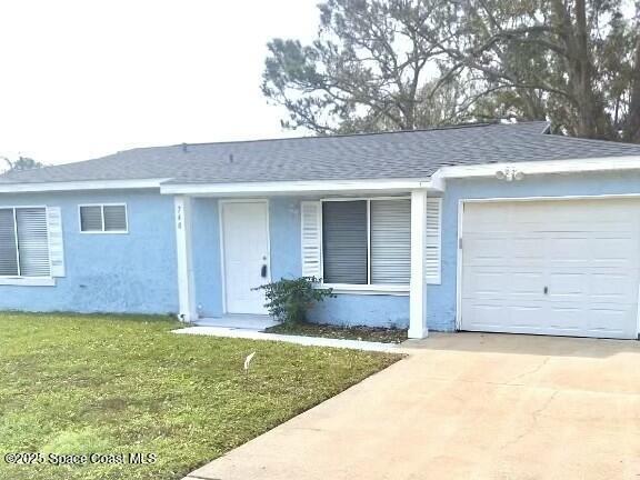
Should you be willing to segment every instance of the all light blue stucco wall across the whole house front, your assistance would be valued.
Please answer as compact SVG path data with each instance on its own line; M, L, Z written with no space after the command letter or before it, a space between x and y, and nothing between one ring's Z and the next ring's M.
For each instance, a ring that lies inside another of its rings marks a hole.
M462 199L627 194L640 192L640 173L449 180L442 203L441 284L427 290L428 327L456 328L458 206ZM300 202L269 201L271 278L301 276ZM79 232L78 204L127 202L128 234ZM151 191L0 194L0 206L62 208L67 277L56 287L0 286L0 310L169 313L178 310L173 199ZM206 317L223 313L219 202L193 200L196 301ZM311 312L337 324L406 327L406 296L339 294Z

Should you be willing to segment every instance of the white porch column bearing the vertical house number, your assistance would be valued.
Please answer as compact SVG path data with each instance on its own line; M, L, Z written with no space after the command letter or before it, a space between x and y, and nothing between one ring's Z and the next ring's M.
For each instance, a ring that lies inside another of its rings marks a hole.
M183 322L198 319L193 282L193 261L191 251L191 198L176 196L176 240L178 249L178 299L179 318Z

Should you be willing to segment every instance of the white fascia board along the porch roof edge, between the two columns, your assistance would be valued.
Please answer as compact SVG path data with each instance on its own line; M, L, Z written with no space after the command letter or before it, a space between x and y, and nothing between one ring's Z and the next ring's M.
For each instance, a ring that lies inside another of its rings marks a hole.
M321 180L321 181L279 181L279 182L246 182L246 183L184 183L163 184L162 194L191 196L247 196L247 194L296 194L353 191L408 191L429 188L429 180L393 179L393 180Z

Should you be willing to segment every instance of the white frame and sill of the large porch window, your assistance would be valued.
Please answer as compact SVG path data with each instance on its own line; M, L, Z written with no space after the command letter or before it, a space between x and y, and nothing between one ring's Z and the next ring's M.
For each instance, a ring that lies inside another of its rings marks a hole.
M321 237L321 269L322 282L321 288L333 289L334 293L361 293L361 294L393 294L408 296L409 283L407 284L381 284L371 283L371 202L377 200L411 200L408 196L398 197L340 197L320 199L320 224L322 224L323 203L340 201L366 201L367 202L367 283L324 283L324 240Z

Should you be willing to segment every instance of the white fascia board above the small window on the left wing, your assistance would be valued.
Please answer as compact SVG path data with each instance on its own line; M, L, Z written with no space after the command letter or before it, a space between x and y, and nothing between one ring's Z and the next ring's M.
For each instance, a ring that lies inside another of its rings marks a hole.
M158 189L169 179L144 180L88 180L73 182L42 182L42 183L2 183L0 193L77 191L77 190L129 190L129 189Z

